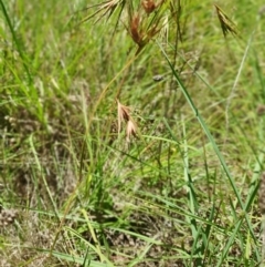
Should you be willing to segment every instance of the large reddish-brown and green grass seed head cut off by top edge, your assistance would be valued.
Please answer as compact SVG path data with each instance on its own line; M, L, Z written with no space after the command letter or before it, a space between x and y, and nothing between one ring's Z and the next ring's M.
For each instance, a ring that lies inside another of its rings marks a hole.
M169 4L162 8L165 3L167 3L165 0L157 2L155 0L140 0L138 2L126 0L105 1L88 7L87 10L96 8L96 11L84 18L82 22L92 18L96 18L95 22L98 22L104 17L109 19L117 11L116 27L118 22L124 24L132 41L138 45L136 52L138 54L165 27L162 21L165 21L165 13L169 8ZM121 18L126 18L125 21Z

